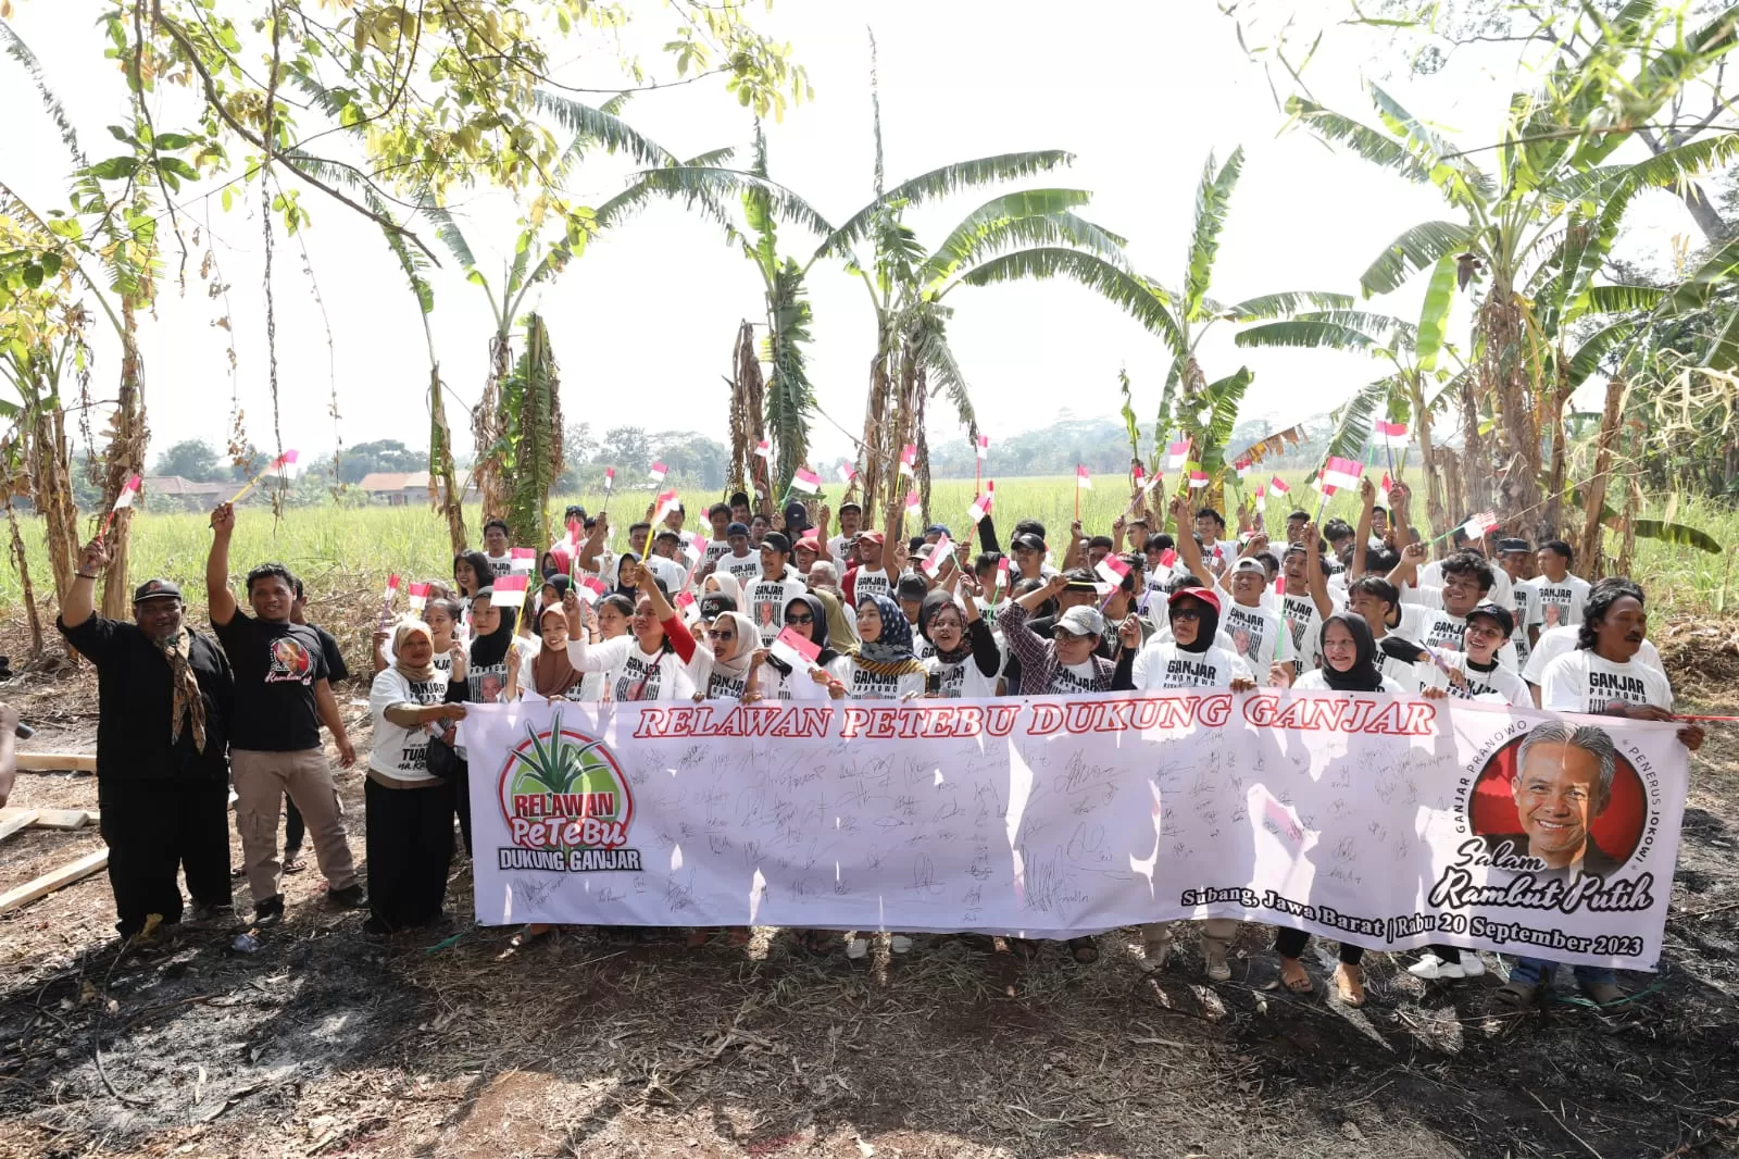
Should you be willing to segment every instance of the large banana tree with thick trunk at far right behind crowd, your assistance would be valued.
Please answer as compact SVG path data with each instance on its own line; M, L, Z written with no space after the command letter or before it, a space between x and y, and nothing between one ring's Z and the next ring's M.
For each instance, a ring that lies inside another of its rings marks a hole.
M1369 87L1381 129L1303 97L1292 117L1318 137L1403 178L1435 186L1459 219L1424 221L1403 231L1365 270L1363 294L1386 294L1431 271L1421 332L1447 322L1450 282L1475 289L1473 374L1457 390L1468 506L1494 505L1506 522L1556 503L1562 494L1562 414L1569 399L1570 322L1643 305L1645 287L1596 285L1595 277L1636 191L1669 184L1739 155L1739 134L1718 134L1666 150L1636 165L1607 164L1624 125L1647 122L1687 70L1706 68L1732 44L1734 12L1687 38L1687 52L1636 63L1650 3L1628 5L1593 47L1562 45L1546 84L1511 97L1496 150L1496 174L1482 171L1377 85ZM1652 33L1650 33L1652 35ZM1609 124L1610 110L1622 124ZM1593 352L1591 352L1593 353ZM1553 433L1549 468L1544 433ZM1551 498L1542 498L1549 492Z

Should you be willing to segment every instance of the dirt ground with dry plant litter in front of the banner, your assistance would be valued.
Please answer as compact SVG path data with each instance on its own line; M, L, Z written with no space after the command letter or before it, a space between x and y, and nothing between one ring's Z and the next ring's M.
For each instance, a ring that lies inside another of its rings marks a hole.
M1739 661L1662 632L1704 712L1739 712ZM1730 633L1729 633L1730 635ZM1727 635L1722 635L1727 639ZM87 748L89 673L5 691ZM341 703L362 689L341 691ZM351 719L363 710L351 705ZM353 731L365 752L362 726ZM362 780L344 778L362 849ZM89 776L19 774L12 804L94 807ZM101 839L30 830L0 889ZM237 863L240 849L237 847ZM237 882L238 896L245 886ZM1718 1156L1739 1149L1739 727L1692 767L1659 975L1614 1013L1499 1015L1490 973L1423 983L1367 961L1360 1011L1269 988L1247 928L1235 978L1162 975L1130 936L1017 973L983 945L812 957L570 931L529 950L475 928L370 941L310 868L289 921L235 954L190 929L120 954L97 874L0 917L0 1156ZM245 910L245 907L243 907ZM1313 943L1315 952L1322 947Z

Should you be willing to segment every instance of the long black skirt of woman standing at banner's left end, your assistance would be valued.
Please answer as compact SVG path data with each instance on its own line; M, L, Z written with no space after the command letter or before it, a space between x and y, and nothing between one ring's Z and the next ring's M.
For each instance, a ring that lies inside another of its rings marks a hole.
M369 778L369 910L388 929L440 919L452 861L452 783L388 788Z

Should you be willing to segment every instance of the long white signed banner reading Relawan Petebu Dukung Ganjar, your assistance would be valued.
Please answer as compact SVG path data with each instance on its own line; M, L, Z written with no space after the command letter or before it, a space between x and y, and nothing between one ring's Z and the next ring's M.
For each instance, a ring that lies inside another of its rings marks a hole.
M1652 969L1673 724L1306 693L471 705L476 919L1174 917Z

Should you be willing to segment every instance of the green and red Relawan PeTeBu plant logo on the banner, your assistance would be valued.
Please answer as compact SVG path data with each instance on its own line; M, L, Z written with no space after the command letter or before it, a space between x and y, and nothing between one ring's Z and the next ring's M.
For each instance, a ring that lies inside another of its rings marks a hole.
M628 847L635 799L609 745L562 726L525 724L525 738L508 750L497 783L511 847L501 868L638 870L640 851Z

